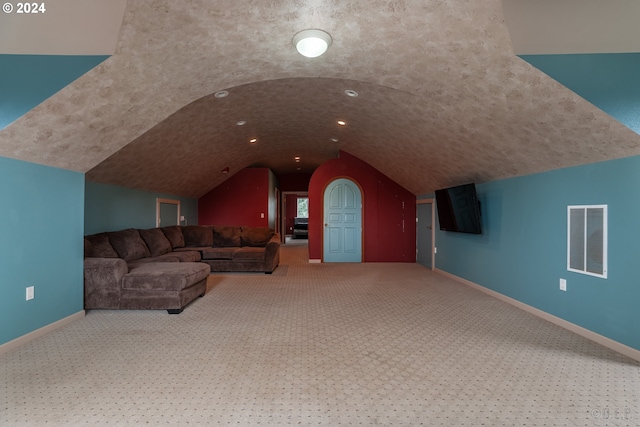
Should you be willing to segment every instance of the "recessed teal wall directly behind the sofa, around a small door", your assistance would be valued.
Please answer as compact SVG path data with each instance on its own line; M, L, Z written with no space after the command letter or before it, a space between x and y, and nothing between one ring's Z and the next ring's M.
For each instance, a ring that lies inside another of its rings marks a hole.
M186 223L198 223L198 199L87 182L84 232L153 228L156 226L157 198L180 200L180 215L185 217Z

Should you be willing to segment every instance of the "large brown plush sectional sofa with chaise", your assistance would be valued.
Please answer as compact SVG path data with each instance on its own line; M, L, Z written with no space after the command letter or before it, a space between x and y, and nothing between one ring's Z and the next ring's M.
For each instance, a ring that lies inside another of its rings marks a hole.
M180 313L211 271L272 273L280 236L261 227L171 226L85 236L86 309Z

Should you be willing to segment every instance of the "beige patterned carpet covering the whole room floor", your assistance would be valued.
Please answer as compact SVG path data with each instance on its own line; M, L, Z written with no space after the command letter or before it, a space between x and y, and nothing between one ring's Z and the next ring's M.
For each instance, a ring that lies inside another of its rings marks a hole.
M213 274L0 356L0 425L637 426L640 363L418 264Z

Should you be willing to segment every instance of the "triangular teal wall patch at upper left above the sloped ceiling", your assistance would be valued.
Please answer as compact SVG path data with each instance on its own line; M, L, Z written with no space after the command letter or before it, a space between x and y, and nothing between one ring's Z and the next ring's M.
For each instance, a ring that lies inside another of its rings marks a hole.
M0 55L0 129L108 56Z

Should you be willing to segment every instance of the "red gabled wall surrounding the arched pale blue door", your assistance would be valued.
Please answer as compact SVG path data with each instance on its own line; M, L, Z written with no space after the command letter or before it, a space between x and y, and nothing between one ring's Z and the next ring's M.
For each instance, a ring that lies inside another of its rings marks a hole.
M309 259L322 258L324 190L337 178L350 178L362 190L363 260L416 262L416 196L344 151L309 182Z

